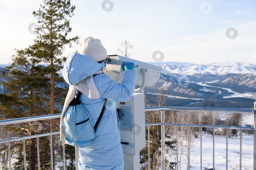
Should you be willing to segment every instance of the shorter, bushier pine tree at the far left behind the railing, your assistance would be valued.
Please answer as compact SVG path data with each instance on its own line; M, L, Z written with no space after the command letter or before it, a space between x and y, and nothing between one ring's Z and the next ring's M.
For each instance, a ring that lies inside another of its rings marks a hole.
M46 114L47 107L43 98L40 97L40 91L48 87L48 78L42 74L44 67L38 65L39 60L33 57L34 52L28 48L25 50L17 50L17 56L14 56L13 63L6 67L2 72L4 78L3 90L5 93L0 94L1 117L3 119L32 117ZM11 137L20 137L34 135L35 130L31 128L33 122L22 123L8 126L6 133L10 133ZM30 139L26 145L29 148L29 169L35 169L35 139ZM14 142L12 148L17 154L22 153L21 142ZM14 152L15 153L15 152ZM15 163L13 169L20 169L22 165L22 157L17 157L18 162Z

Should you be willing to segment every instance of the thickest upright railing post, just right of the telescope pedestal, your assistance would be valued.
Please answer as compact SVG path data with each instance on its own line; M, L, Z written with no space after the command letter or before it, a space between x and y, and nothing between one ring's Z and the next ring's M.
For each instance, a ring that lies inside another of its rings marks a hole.
M165 126L164 126L164 110L161 110L161 123L162 123L162 127L161 127L161 167L162 170L165 170Z

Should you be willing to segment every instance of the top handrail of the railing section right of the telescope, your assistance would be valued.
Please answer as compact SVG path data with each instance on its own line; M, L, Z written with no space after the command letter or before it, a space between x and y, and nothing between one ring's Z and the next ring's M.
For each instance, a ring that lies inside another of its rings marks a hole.
M198 111L198 112L235 112L235 113L255 113L254 109L228 109L228 108L211 108L211 107L145 107L145 112L161 111L161 110L177 110L177 111Z

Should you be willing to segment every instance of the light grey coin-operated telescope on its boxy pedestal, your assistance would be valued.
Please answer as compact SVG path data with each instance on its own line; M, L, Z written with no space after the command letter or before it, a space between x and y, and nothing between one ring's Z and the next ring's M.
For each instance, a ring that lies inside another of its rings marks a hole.
M144 93L139 93L145 86L152 87L160 78L161 67L126 58L119 55L107 56L107 74L116 83L123 79L123 64L127 61L134 63L137 72L136 85L140 86L134 90L129 101L118 101L116 103L119 115L119 130L121 144L124 153L124 170L140 169L140 151L146 146L145 139L145 100Z

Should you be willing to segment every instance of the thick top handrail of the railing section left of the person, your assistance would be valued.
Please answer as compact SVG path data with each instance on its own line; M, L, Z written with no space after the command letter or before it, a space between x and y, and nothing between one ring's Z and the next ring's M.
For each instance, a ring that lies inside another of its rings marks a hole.
M28 117L28 118L0 120L0 125L31 122L31 121L36 121L36 120L38 121L38 120L46 120L46 119L55 119L55 118L60 118L60 116L61 116L61 113L43 115L43 116L34 116L34 117Z

